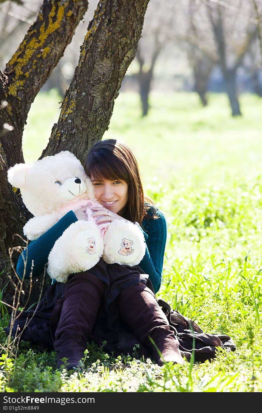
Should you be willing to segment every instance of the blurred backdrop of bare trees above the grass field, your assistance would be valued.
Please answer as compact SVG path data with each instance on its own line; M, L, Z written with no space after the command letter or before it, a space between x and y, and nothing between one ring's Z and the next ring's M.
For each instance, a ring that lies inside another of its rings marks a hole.
M23 7L15 2L0 5L0 27L7 32L5 36L1 34L2 69L16 50L19 37L22 41L24 30L34 20L40 4L39 0L23 0ZM61 97L64 96L96 5L96 0L89 1L88 10L77 26L72 42L42 90L55 87ZM121 91L135 90L139 93L142 115L149 110L152 89L168 92L194 90L203 106L208 103L209 91L225 92L232 114L239 114L240 93L257 93L259 96L262 93L261 15L262 0L150 1L137 58L127 70ZM4 40L6 36L8 41Z

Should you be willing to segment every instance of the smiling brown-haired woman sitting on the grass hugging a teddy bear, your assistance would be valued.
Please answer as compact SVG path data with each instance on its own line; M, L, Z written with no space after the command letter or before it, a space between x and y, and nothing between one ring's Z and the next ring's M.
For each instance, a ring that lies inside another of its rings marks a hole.
M101 216L97 222L118 219L139 225L146 254L139 266L106 264L101 259L91 270L71 274L66 283L54 282L38 304L22 339L54 348L58 367L67 358L67 369L77 366L88 340L99 345L106 341L105 350L118 354L132 353L134 344L139 343L140 356L151 356L159 365L163 360L183 364L175 330L155 297L161 285L166 219L144 197L134 155L123 142L103 140L89 151L84 169L94 185L96 199L103 205L94 208L93 216ZM31 242L26 268L26 251L19 257L19 277L29 278L32 260L33 277L40 275L55 241L69 225L81 219L87 219L84 209L70 211ZM20 313L12 335L18 324L23 328L28 316L30 311Z

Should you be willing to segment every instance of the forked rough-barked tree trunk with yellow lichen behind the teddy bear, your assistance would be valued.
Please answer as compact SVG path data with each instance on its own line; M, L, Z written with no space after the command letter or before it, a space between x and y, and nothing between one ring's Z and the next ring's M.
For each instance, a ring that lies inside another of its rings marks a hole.
M127 67L135 57L149 0L101 0L90 22L81 48L79 64L65 94L58 123L41 157L70 150L84 161L87 150L103 136L113 112ZM0 72L0 289L8 276L14 279L8 249L21 245L13 234L22 235L27 218L19 200L19 190L7 182L7 169L24 162L22 133L31 103L70 43L75 28L87 10L80 0L44 0L35 23L29 28L5 72ZM13 130L1 134L7 123ZM18 195L17 195L18 194ZM27 211L28 212L28 211ZM17 253L14 255L17 259ZM14 260L14 265L16 261ZM25 290L29 282L25 282ZM41 282L29 304L37 301ZM13 290L5 290L5 301L12 303ZM26 290L27 291L27 290ZM24 301L20 302L22 306Z

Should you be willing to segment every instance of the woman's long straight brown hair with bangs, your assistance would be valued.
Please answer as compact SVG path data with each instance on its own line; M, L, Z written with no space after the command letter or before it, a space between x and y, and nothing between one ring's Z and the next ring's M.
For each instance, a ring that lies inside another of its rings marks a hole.
M148 214L154 202L144 196L137 160L130 148L115 139L105 139L94 144L84 162L87 176L95 180L124 180L128 184L128 201L125 218L142 225L143 218L157 218ZM154 209L155 210L155 209Z

